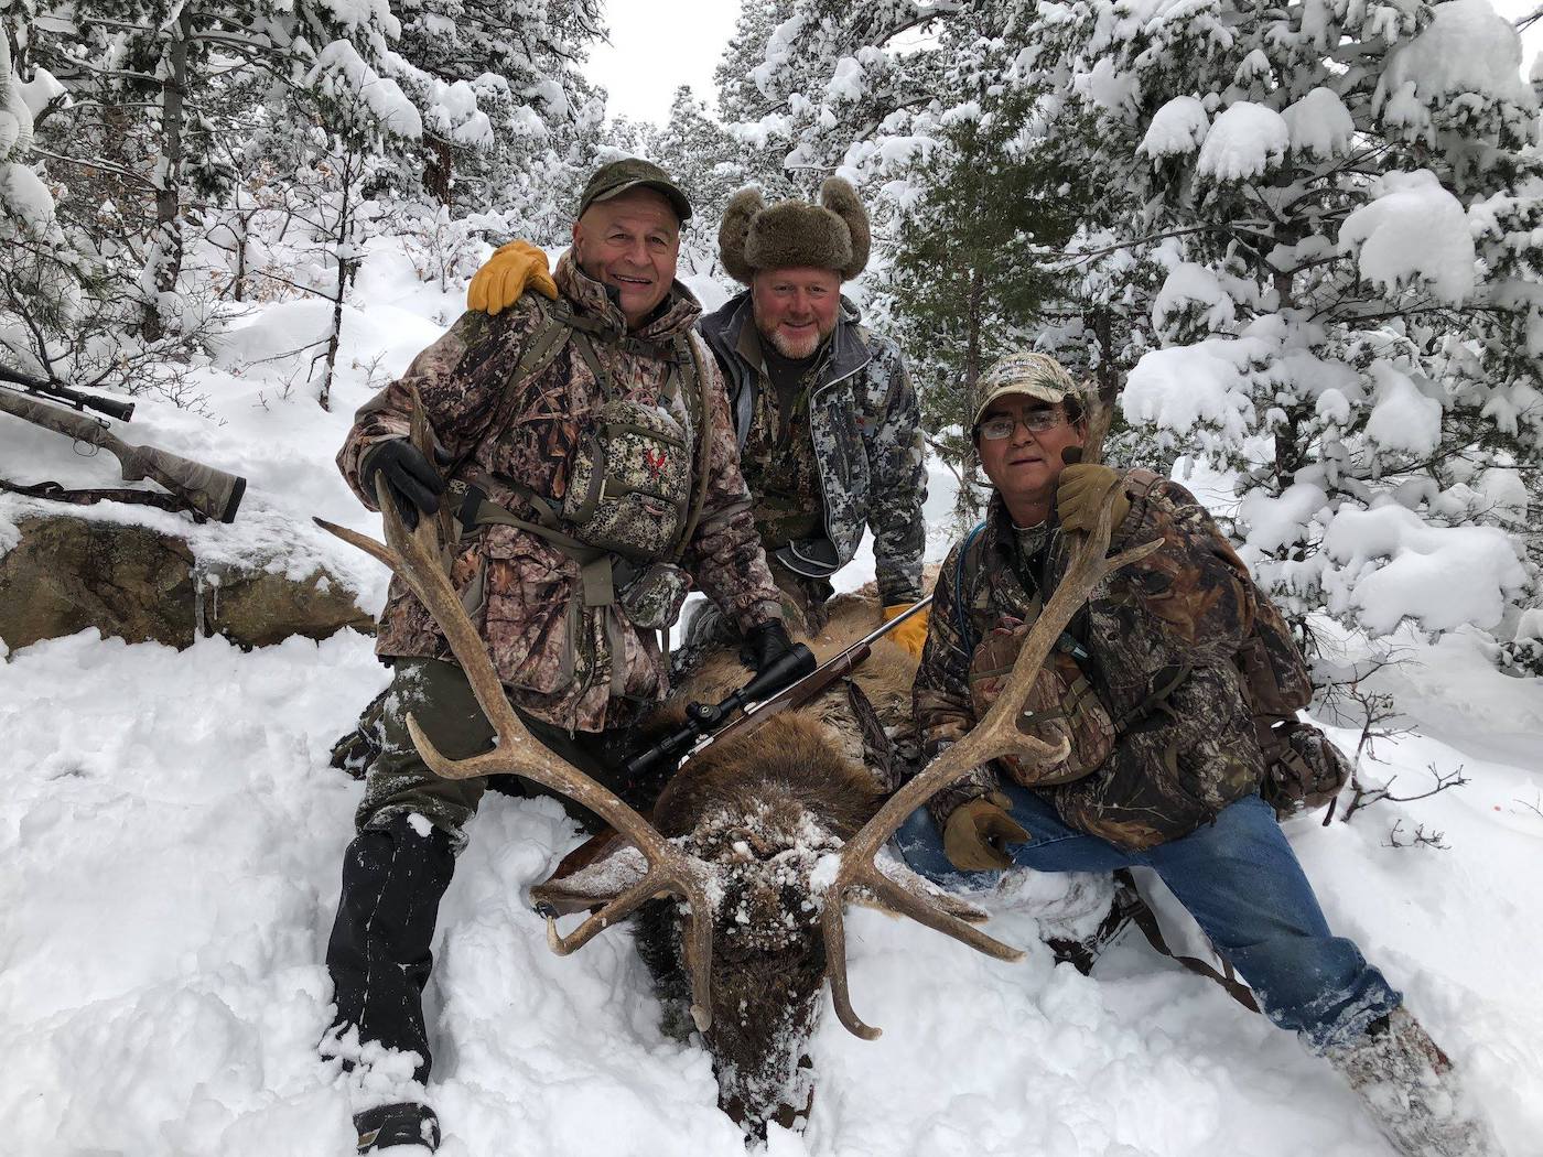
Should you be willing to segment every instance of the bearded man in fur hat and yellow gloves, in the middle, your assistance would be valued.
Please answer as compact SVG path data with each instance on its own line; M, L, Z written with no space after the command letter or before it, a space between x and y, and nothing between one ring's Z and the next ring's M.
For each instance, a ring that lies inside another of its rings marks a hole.
M724 268L747 288L697 322L728 387L755 523L785 602L818 629L830 575L873 531L886 619L921 597L926 467L917 395L900 347L866 329L841 282L869 259L869 219L852 185L830 177L819 202L765 205L733 196L717 233ZM545 261L506 245L472 279L472 309L497 313ZM543 290L545 292L545 290ZM691 620L701 640L733 628L713 608ZM921 651L926 614L895 629Z

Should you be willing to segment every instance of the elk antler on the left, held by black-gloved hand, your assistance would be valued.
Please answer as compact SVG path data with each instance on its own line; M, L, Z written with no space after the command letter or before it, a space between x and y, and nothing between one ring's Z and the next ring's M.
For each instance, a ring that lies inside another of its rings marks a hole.
M643 901L657 895L676 895L690 907L691 960L691 1017L702 1032L711 1024L710 973L713 956L713 906L707 898L705 869L699 861L676 848L659 830L616 794L593 781L568 761L537 742L520 722L498 680L498 673L488 657L481 636L472 626L455 588L440 562L440 545L435 520L418 518L409 532L397 512L384 478L376 475L376 500L386 525L386 543L335 526L322 518L316 525L330 531L361 551L372 554L395 571L412 592L418 595L434 620L444 631L466 679L472 685L483 714L498 733L497 747L469 759L446 759L409 714L407 730L412 742L429 768L446 779L471 779L475 776L518 774L534 779L569 799L583 804L602 816L611 827L633 841L648 859L648 873L642 881L591 915L571 936L557 932L557 921L546 919L546 941L552 952L566 956L582 949L596 933L625 919Z

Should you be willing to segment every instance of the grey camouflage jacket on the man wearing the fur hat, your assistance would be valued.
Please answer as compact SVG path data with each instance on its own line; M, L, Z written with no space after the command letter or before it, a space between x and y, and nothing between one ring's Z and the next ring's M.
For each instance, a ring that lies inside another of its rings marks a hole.
M759 358L751 361L744 350L747 326L753 332L748 292L697 326L728 381L741 447L750 435L756 395L770 389ZM880 599L886 606L915 602L921 597L921 506L927 498L917 392L900 346L861 326L846 298L810 390L809 426L821 467L826 532L788 543L778 558L796 574L824 578L852 562L869 526Z

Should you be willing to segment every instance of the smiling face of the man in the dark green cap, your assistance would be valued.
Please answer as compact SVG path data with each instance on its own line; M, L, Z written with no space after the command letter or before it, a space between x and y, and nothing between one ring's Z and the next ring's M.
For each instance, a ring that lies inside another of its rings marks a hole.
M596 202L574 222L579 268L616 290L631 329L670 293L679 258L680 222L670 202L650 188Z

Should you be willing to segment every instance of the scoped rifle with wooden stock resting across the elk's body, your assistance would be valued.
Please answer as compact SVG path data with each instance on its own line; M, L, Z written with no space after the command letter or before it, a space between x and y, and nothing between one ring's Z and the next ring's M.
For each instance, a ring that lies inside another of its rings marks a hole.
M878 639L883 639L910 619L910 616L917 614L917 611L930 605L932 595L929 594L915 606L895 616L876 631L863 636L863 639L858 639L846 651L827 659L819 666L815 666L815 656L810 649L798 643L792 651L721 703L687 703L685 727L665 736L647 751L628 759L622 764L623 773L626 773L628 779L637 782L660 759L679 757L682 753L687 753L687 756L699 754L713 744L753 731L781 711L802 707L838 679L846 679L852 674L873 653L873 643ZM739 714L731 719L730 716L734 716L734 713ZM725 719L728 720L727 725L724 725Z

